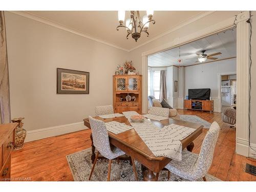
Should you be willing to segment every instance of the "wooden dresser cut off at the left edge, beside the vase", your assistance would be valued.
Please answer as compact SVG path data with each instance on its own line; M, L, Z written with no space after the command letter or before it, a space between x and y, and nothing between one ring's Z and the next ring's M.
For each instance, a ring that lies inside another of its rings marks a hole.
M14 143L14 130L17 124L0 124L0 181L11 180L11 152Z

